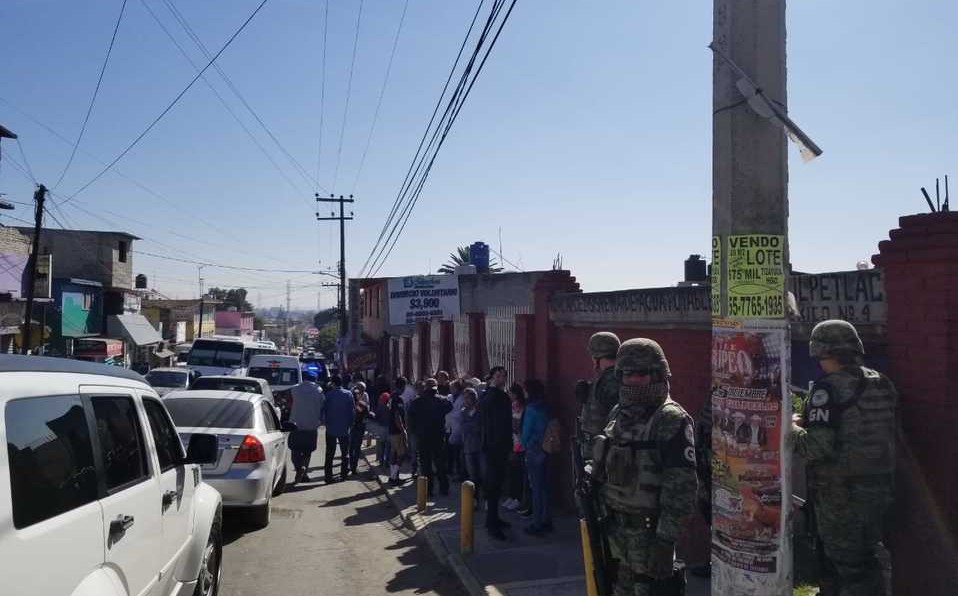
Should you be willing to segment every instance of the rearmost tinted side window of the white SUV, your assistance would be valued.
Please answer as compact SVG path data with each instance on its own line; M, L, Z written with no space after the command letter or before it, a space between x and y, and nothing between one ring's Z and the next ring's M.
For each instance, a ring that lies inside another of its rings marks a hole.
M96 500L93 445L79 397L13 400L5 418L15 527Z

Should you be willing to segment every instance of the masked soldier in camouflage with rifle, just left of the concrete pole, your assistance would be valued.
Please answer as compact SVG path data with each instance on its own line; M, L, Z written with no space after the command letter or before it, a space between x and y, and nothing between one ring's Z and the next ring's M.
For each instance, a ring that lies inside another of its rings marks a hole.
M619 348L619 401L595 441L603 528L616 596L650 596L673 575L675 542L695 511L695 439L691 416L669 396L669 363L656 342Z

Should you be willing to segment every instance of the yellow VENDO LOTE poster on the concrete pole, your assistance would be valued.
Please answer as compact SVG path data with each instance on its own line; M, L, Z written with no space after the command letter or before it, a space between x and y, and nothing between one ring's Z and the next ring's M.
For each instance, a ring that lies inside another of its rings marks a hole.
M785 317L785 237L743 234L728 237L728 316Z

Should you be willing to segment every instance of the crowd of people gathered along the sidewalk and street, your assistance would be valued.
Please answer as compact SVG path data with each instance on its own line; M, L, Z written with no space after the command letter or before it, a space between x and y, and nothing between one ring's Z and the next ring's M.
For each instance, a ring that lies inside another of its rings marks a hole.
M527 534L553 531L549 511L547 462L550 415L545 386L537 379L508 383L508 373L495 366L484 380L452 378L446 371L411 382L377 376L369 385L361 378L333 375L324 387L304 372L292 391L289 436L294 482L312 482L308 475L318 429L325 426L323 463L327 484L355 474L364 443L375 442L377 465L392 485L428 479L428 495L448 495L451 483L471 481L476 506L485 509L486 529L506 540L500 507L529 519ZM333 462L339 447L339 475Z

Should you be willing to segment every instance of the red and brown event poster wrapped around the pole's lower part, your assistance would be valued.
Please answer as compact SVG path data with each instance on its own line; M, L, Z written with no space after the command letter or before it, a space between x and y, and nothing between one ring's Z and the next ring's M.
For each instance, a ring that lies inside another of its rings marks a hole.
M783 532L784 327L712 328L713 581L734 594L777 594L791 568ZM784 385L787 387L787 385ZM719 592L722 593L722 592Z

